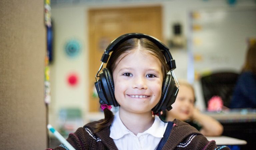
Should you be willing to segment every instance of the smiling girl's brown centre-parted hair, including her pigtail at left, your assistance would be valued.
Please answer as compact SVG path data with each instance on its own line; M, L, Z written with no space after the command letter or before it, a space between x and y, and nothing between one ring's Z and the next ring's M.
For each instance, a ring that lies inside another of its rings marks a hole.
M158 48L156 44L151 42L146 38L132 38L121 43L111 54L109 61L107 63L107 68L113 72L117 66L117 64L124 58L126 55L131 53L135 48L141 47L141 51L145 51L147 54L151 54L159 59L162 64L161 70L163 73L163 80L165 78L165 74L170 70L169 66L165 61L165 57L161 50ZM108 109L104 109L104 121L96 124L96 132L101 131L102 129L109 127L114 119L114 115L112 111Z

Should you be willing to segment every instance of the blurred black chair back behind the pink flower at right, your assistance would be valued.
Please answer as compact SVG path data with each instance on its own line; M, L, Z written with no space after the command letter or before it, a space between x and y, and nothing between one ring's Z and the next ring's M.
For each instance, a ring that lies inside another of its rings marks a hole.
M229 107L238 76L239 74L234 72L215 72L202 76L201 84L206 107L212 96L220 96L223 105Z

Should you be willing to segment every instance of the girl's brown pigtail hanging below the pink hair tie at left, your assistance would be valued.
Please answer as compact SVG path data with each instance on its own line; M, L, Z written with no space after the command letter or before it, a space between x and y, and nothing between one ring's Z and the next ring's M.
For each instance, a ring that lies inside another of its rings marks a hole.
M102 108L102 106L101 106L101 108ZM114 120L114 114L109 108L104 109L103 112L104 112L105 118L104 118L103 122L97 123L95 125L95 132L99 132L99 131L103 130L104 128L109 127Z

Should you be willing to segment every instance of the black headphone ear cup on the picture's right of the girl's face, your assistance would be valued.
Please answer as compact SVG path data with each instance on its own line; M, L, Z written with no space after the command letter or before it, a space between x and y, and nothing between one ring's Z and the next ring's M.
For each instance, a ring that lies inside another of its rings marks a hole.
M175 102L177 91L177 87L175 81L170 74L166 74L165 80L162 85L162 95L160 101L157 105L152 109L153 112L157 113L164 110L171 110L172 104Z

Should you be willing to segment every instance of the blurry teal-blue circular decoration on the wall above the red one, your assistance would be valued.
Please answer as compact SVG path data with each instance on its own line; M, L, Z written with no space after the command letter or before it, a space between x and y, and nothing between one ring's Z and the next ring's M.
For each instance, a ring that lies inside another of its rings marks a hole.
M81 44L78 40L69 40L66 43L65 51L69 57L76 57L80 53Z

